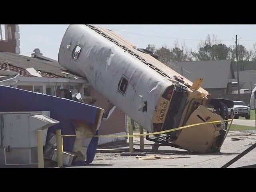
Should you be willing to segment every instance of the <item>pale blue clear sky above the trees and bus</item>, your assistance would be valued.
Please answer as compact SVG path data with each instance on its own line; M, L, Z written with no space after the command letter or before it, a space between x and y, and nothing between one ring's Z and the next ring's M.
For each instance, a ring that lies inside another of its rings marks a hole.
M140 48L147 44L172 48L178 39L185 41L193 51L200 40L215 34L227 46L234 45L236 34L239 43L252 49L256 43L256 25L98 25L114 30ZM20 53L30 56L34 48L40 48L44 56L58 60L60 42L67 25L20 25Z

